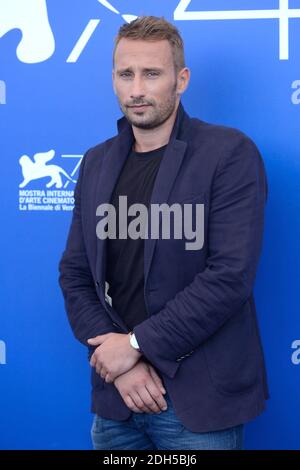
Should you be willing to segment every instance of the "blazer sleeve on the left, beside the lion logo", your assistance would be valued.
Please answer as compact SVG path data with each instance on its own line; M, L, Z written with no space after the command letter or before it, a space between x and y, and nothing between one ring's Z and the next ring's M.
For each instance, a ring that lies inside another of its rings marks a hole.
M88 338L117 332L117 329L98 298L82 232L81 191L87 154L82 160L75 188L75 206L71 227L66 248L59 263L59 284L75 337L93 350L94 348L87 344Z

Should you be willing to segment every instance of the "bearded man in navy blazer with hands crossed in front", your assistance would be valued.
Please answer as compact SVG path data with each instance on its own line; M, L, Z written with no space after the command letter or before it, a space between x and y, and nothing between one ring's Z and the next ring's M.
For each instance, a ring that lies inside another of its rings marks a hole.
M185 113L189 78L173 25L120 28L125 116L82 161L60 263L89 348L96 449L240 449L268 397L253 300L264 167L244 134Z

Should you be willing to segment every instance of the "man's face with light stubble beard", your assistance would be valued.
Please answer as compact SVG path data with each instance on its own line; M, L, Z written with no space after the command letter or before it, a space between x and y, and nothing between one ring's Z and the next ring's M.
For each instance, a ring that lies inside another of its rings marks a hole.
M162 125L179 103L169 42L121 39L115 51L113 84L121 110L133 126Z

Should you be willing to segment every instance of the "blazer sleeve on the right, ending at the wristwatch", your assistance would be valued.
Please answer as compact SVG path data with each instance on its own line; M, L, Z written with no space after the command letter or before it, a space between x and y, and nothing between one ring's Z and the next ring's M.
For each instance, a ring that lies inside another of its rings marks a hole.
M267 181L255 144L243 134L219 162L211 187L206 268L134 328L149 361L170 377L252 293L261 251Z

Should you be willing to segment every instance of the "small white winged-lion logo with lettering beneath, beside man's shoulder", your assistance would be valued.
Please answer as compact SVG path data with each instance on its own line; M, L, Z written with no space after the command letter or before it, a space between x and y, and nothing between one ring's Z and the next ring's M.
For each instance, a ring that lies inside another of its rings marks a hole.
M65 171L59 165L47 164L54 158L53 149L48 152L36 153L33 160L28 155L22 155L19 163L22 169L23 181L20 188L25 188L29 183L38 181L39 184L45 184L41 181L48 178L46 188L38 186L34 189L19 189L19 210L20 211L70 211L74 207L74 190L66 188L70 183L76 183L73 178L79 169L83 155L64 154L61 158L76 159L76 165L71 173ZM49 180L50 178L50 180ZM65 183L63 181L65 180ZM32 185L31 185L32 186Z

